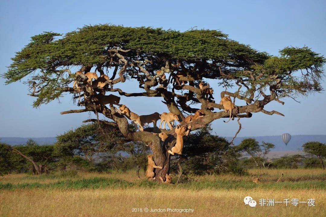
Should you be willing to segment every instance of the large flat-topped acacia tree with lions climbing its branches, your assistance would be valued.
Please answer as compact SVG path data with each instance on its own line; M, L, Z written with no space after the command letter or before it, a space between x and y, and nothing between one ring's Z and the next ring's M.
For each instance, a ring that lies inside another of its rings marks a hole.
M96 68L100 75L109 73L112 82L106 82L100 90L102 93L160 97L180 121L186 114L202 108L205 116L191 123L192 130L196 130L229 116L223 110L211 110L223 109L223 106L215 103L212 97L205 97L205 92L198 88L201 79L218 80L226 89L220 96L231 96L233 102L237 99L237 107L232 114L238 117L240 125L241 118L251 118L257 112L284 116L278 111L264 109L272 101L284 104L281 101L284 97L295 98L321 91L320 80L325 63L323 56L308 47L286 47L280 50L280 56L275 57L231 40L228 35L216 30L179 32L107 24L85 26L65 35L53 32L35 35L12 60L8 71L2 76L7 79L7 84L26 77L26 83L31 88L29 95L37 97L34 107L59 99L65 93L76 95L84 92L86 98L79 104L81 109L63 111L61 114L102 113L113 121L110 124L118 127L127 140L150 144L156 164L163 166L163 169L156 170L156 180L159 180L159 176L165 177L169 170L170 155L167 151L176 143L174 130L162 130L169 135L163 146L159 138L152 134L161 132L157 128L146 128L144 132L131 131L127 119L119 115L113 106L103 108L96 105L92 97L95 93L93 89L85 85L80 85L80 88L69 86L75 80L75 74L70 69L79 67L86 73ZM158 70L161 71L157 74ZM186 76L178 80L181 85L173 83L171 89L169 81L177 80L176 73ZM169 79L161 82L163 86L158 86L158 78L163 74L168 75ZM78 81L86 79L84 75L77 76ZM122 84L127 79L139 86L138 93L114 88L115 84ZM208 87L206 85L204 88ZM235 87L235 91L230 91L231 87ZM132 110L132 105L127 106Z

